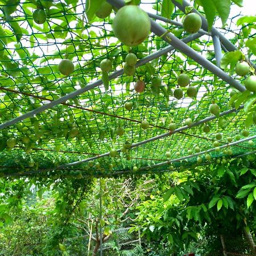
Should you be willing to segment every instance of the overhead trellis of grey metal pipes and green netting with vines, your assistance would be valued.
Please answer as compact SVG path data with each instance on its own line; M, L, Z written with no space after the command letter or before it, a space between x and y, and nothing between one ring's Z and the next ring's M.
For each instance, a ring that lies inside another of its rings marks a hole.
M117 9L124 5L119 0L108 2ZM174 162L179 163L175 167L192 166L199 155L203 157L200 164L205 164L217 158L255 154L255 93L246 91L244 78L226 72L232 61L225 63L224 57L221 64L225 52L237 51L236 46L241 48L248 28L237 27L237 17L233 17L228 20L228 28L213 27L208 32L207 20L203 18L201 30L188 35L181 27L188 3L173 2L171 19L161 16L162 1L141 5L142 9L151 6L148 12L152 33L132 49L114 37L114 12L104 20L94 18L88 22L84 2L16 2L12 3L15 9L11 18L3 11L2 175L147 173L170 170ZM47 13L47 21L42 25L32 19L38 6ZM200 13L204 15L203 9ZM250 31L247 34L254 39ZM253 51L247 49L246 58L255 68ZM123 74L129 51L138 58L134 76ZM236 54L235 59L239 59L240 52ZM75 71L69 76L61 75L58 69L65 58L75 64ZM100 80L100 62L106 58L113 62L108 89ZM191 77L197 97L187 97L186 88L180 100L174 97L181 70ZM151 86L155 75L162 77L158 89ZM143 93L133 89L138 79L146 82ZM230 100L232 88L242 92L233 97L234 102ZM126 102L132 103L131 110L124 108ZM220 116L209 113L212 102L220 107ZM186 126L186 118L191 118L193 125ZM150 125L147 130L141 127L143 120ZM171 122L178 127L172 132L168 130ZM210 126L209 133L203 131L205 123ZM122 136L116 134L118 127L125 129ZM235 138L243 129L249 131L249 136ZM217 150L213 147L216 133L222 134ZM228 144L228 137L233 138L232 143ZM7 143L10 138L15 139L13 148ZM130 145L129 149L120 152L125 144ZM195 152L196 146L201 152ZM232 155L224 151L226 147L232 149ZM112 148L118 151L115 158L109 156ZM210 154L211 159L205 159L205 154Z

